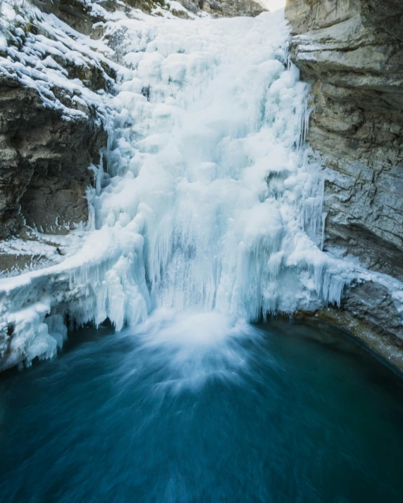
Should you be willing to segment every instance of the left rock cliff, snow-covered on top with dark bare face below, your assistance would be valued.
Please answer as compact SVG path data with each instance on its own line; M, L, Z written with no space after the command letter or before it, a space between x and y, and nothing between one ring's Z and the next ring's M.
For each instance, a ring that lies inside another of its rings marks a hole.
M99 93L113 92L114 70L103 56L81 51L77 37L66 37L57 22L49 32L32 4L3 8L0 239L37 241L27 227L60 235L87 222L86 192L94 179L88 168L99 163L107 141ZM0 273L38 258L36 251L10 255L8 248L0 244Z

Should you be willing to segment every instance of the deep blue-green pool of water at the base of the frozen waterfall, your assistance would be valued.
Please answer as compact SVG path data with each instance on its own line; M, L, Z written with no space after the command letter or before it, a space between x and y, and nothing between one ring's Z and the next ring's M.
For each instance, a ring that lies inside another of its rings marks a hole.
M325 326L156 313L0 393L1 502L403 501L402 381Z

